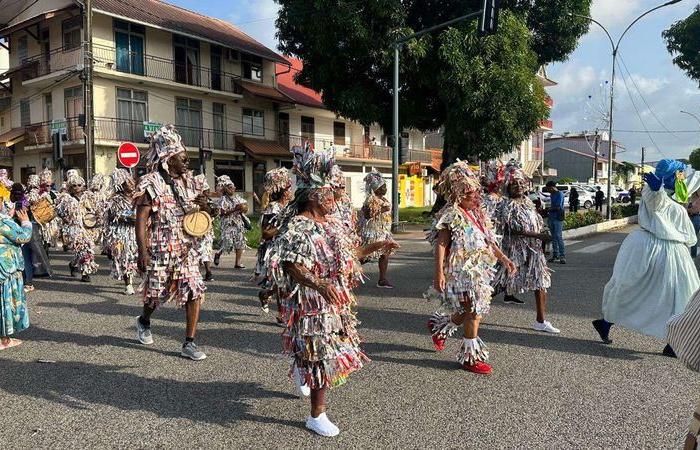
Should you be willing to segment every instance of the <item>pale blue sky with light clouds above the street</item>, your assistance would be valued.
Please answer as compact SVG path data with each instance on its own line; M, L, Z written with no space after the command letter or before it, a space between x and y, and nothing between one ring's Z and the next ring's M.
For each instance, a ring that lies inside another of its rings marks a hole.
M276 50L278 5L273 0L168 1L228 20ZM618 57L613 127L614 139L625 147L620 159L640 161L642 147L646 148L647 161L687 158L692 149L700 147L700 123L680 112L700 117L700 88L673 65L661 38L663 30L687 17L699 2L683 0L651 13L624 37ZM592 16L617 40L637 16L661 3L663 0L593 0ZM549 78L558 83L548 88L555 102L551 114L555 132L606 127L603 110L609 98L611 68L610 42L595 25L568 60L548 67Z

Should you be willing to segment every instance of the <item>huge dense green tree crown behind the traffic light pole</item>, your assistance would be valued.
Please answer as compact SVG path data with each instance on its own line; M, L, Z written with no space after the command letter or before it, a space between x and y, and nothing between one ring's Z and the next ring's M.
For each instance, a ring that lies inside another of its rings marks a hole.
M468 11L482 0L277 0L280 49L304 61L297 81L337 114L392 125L392 43ZM504 0L499 30L477 36L476 21L408 42L401 55L400 122L444 127L443 164L510 151L545 119L535 73L575 49L591 0Z

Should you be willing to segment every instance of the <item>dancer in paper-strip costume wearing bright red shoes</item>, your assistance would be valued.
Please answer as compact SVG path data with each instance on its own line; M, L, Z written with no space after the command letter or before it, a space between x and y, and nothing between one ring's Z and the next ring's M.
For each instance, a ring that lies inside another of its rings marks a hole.
M494 266L500 261L510 276L517 269L496 243L483 210L481 184L468 163L460 161L446 168L439 189L447 204L428 233L435 252L435 276L425 297L441 305L428 321L428 329L435 349L442 351L447 338L463 326L457 362L466 371L488 375L492 368L479 337L479 324L491 307Z

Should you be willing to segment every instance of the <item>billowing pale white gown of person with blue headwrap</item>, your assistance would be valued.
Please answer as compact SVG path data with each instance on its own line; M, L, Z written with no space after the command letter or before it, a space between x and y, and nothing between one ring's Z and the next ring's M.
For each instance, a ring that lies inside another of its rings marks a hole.
M649 186L642 190L639 225L617 254L603 292L603 316L663 339L666 322L682 313L700 288L689 248L697 236L685 208Z

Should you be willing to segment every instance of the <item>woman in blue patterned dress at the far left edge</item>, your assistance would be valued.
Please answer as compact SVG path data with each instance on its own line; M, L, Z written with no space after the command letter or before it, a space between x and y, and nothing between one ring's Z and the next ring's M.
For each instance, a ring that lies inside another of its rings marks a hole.
M20 345L22 341L13 336L29 328L21 246L31 237L32 223L27 210L16 209L10 201L0 201L0 350Z

